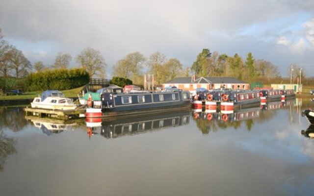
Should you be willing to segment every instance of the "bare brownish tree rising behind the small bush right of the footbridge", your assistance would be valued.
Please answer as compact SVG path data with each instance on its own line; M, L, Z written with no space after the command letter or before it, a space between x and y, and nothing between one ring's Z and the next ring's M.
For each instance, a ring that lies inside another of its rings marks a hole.
M113 66L113 75L131 78L135 83L139 83L139 76L146 58L140 52L128 54Z

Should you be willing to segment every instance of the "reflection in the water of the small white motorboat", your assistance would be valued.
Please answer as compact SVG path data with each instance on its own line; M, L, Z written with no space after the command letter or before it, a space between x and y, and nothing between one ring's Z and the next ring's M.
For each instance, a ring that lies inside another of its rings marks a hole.
M77 123L66 123L63 121L43 119L43 118L26 118L30 120L35 127L42 130L46 135L52 135L62 133L65 130L72 130L73 126L78 125Z

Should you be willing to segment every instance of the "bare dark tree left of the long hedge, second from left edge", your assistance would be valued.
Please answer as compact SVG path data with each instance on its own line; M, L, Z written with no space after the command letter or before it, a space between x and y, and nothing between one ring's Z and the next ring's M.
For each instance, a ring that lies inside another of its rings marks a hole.
M18 49L12 49L10 55L11 67L15 72L15 77L24 77L32 69L30 62L24 56L23 52Z

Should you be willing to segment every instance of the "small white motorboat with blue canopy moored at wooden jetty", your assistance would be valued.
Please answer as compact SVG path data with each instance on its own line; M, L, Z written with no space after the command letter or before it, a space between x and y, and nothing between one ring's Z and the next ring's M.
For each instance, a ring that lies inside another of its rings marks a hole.
M30 103L32 108L74 110L78 107L73 103L72 98L65 98L60 91L49 90L41 94L41 97L34 98Z

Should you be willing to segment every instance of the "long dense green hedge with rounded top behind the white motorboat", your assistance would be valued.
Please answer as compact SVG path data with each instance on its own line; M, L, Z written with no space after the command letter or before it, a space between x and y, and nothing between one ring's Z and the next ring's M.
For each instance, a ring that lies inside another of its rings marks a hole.
M30 73L26 77L26 91L48 89L68 90L84 86L89 82L89 74L84 69L58 69Z

